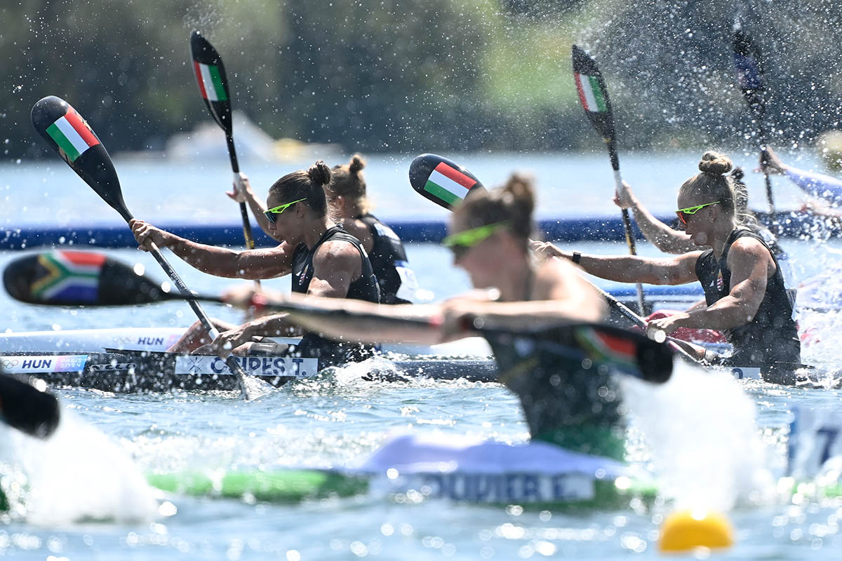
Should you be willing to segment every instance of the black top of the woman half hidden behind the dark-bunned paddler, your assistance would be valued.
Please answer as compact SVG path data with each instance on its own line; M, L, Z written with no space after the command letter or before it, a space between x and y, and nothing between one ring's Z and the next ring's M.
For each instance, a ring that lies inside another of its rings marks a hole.
M410 304L410 300L397 295L411 296L417 285L401 239L372 214L360 214L357 220L368 226L374 241L369 258L380 284L381 304Z

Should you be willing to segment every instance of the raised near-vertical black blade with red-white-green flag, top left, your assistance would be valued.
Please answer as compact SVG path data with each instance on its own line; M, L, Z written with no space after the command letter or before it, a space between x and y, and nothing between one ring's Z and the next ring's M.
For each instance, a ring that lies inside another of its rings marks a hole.
M190 34L190 55L199 93L216 124L231 135L231 94L222 57L198 31Z

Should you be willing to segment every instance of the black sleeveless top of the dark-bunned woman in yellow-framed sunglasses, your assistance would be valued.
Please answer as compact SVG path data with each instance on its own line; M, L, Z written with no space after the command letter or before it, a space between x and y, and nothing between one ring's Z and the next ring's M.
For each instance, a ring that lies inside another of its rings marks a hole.
M348 294L345 298L365 300L366 302L380 302L380 289L377 286L377 279L371 269L371 262L365 249L354 236L342 229L342 226L332 226L319 238L315 246L308 248L306 244L298 244L292 254L292 292L306 294L310 288L310 281L313 277L313 256L316 255L319 247L325 241L347 241L360 251L362 258L362 274L360 278L350 284ZM316 357L319 359L320 368L322 365L347 363L349 361L360 361L370 357L372 348L360 343L349 343L331 341L315 333L305 333L301 337L301 344L297 345L294 352L302 357Z

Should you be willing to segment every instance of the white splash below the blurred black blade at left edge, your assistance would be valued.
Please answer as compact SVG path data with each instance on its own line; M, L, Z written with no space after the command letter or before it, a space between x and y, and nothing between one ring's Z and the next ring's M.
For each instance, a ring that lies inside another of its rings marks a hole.
M157 516L157 491L131 458L67 409L47 440L0 426L0 484L13 516L40 526Z

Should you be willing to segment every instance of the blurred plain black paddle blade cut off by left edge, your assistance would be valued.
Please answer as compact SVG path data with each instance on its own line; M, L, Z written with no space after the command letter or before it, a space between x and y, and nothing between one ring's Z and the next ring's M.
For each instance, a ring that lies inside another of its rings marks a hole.
M46 438L60 419L58 400L42 380L0 372L0 421L29 436Z

